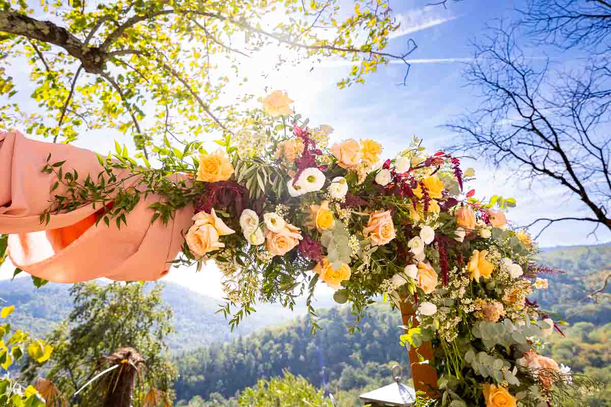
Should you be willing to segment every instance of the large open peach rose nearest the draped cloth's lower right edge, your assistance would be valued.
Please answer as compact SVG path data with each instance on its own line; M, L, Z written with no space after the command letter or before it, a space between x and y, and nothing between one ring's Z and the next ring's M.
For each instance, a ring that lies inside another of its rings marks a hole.
M185 240L189 250L197 256L204 256L210 251L225 247L224 243L219 242L219 236L235 233L233 229L225 225L221 218L216 216L214 209L210 214L199 212L192 220L195 222L189 228Z

